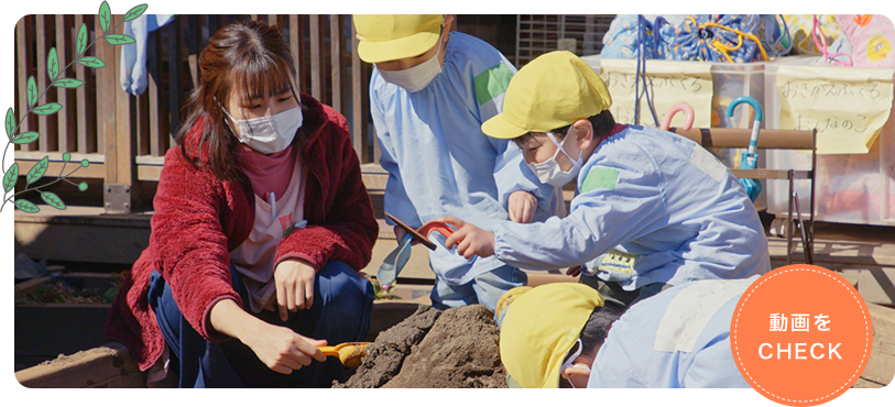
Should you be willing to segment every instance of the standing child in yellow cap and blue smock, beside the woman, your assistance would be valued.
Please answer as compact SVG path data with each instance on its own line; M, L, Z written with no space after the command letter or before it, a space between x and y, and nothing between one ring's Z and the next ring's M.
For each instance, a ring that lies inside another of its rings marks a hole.
M538 182L507 140L481 124L503 106L516 69L493 46L451 32L440 12L356 12L358 54L375 66L370 110L389 172L385 212L413 228L446 216L477 224L545 220L565 210L561 191ZM391 222L391 221L390 221ZM401 244L403 230L395 228ZM482 304L527 280L496 258L467 260L429 237L436 308ZM402 249L401 246L399 250Z

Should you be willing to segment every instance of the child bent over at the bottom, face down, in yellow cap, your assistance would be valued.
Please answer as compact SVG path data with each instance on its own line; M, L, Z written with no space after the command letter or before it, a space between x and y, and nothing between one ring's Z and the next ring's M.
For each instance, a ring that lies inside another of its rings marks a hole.
M510 388L751 388L730 348L757 276L689 282L623 310L578 283L521 287L498 302Z

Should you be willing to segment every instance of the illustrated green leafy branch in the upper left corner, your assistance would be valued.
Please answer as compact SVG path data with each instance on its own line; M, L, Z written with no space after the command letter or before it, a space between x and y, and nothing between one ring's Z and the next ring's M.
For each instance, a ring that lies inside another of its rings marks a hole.
M72 185L75 185L67 178L78 169L89 166L90 165L89 161L84 160L80 162L80 165L77 168L75 168L75 170L68 174L63 174L65 172L66 164L68 164L69 161L72 160L72 155L69 153L65 153L63 154L64 161L63 168L59 172L59 175L56 177L56 179L41 186L32 186L34 183L40 180L46 174L46 169L50 166L50 156L45 156L43 160L37 162L37 164L34 165L25 175L25 189L10 195L12 189L15 187L17 182L19 180L19 165L17 163L13 163L9 168L7 168L7 154L9 153L9 147L12 144L33 143L34 141L40 139L40 133L37 132L18 133L21 123L24 122L24 120L28 118L30 113L39 116L55 114L56 112L62 110L63 106L59 103L46 103L42 106L36 106L37 101L41 98L43 98L52 87L74 89L84 85L84 81L78 79L59 77L62 73L68 70L68 68L72 67L74 64L77 63L88 68L95 69L102 68L106 66L106 64L97 57L84 56L87 50L94 46L94 44L96 44L97 41L105 38L106 42L108 42L111 45L125 45L134 43L135 41L132 37L124 34L112 34L112 32L114 32L122 23L135 20L137 18L145 13L146 9L149 9L148 4L134 6L133 8L128 10L128 12L124 14L124 18L118 24L116 24L113 28L111 28L111 30L109 30L109 25L111 25L112 22L112 11L111 8L109 7L109 2L102 1L102 3L99 6L99 24L100 28L102 29L102 35L97 37L92 43L87 44L87 24L81 24L80 30L78 31L78 37L76 42L77 58L68 63L68 65L66 65L65 68L63 68L62 70L59 70L59 61L58 57L56 56L56 48L54 47L50 50L50 53L47 54L46 57L46 74L50 77L51 84L46 89L44 89L43 94L37 95L37 86L34 81L33 76L28 79L28 92L26 92L29 108L28 112L25 112L22 116L22 118L19 119L19 123L17 124L15 110L12 107L10 107L9 110L7 110L6 120L3 121L3 128L7 132L7 146L3 150L2 158L3 204L2 206L0 206L0 213L2 213L3 210L6 210L7 204L12 204L24 212L34 213L40 211L36 205L32 204L26 199L15 200L18 196L30 191L40 193L41 199L43 199L44 202L56 209L61 210L66 209L65 204L62 201L62 199L59 199L58 196L50 191L44 191L42 190L42 188L46 188L53 184L63 180ZM81 191L87 189L86 183L80 183L79 185L76 186Z

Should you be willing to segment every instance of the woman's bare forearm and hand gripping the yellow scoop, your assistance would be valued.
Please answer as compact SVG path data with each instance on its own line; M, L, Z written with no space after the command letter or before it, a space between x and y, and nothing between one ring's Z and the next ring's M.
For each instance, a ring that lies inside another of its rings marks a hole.
M209 318L211 329L249 346L265 366L276 373L292 374L313 360L326 361L317 348L325 346L326 341L312 340L291 329L263 322L232 299L216 304Z

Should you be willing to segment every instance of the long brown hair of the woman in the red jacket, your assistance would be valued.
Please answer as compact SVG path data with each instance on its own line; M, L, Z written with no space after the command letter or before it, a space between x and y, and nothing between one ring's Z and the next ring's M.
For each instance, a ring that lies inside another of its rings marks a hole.
M239 172L232 164L239 141L225 122L221 107L227 106L234 91L242 91L243 99L251 100L286 89L302 106L291 80L295 78L295 65L288 44L279 26L255 21L232 23L209 40L199 54L199 86L189 94L187 118L175 141L193 165L206 166L220 179L238 179ZM196 156L190 157L187 138L198 122L204 125ZM301 147L306 140L306 133L299 129L293 147ZM207 152L207 163L200 160L203 150Z

